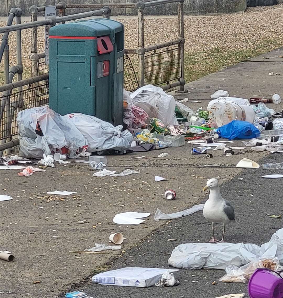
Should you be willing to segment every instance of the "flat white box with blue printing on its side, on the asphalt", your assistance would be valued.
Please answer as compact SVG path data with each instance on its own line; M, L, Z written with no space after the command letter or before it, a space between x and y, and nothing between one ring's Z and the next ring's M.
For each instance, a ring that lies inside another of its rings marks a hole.
M125 267L98 273L92 277L93 283L120 285L126 287L151 287L162 278L162 274L177 272L179 269Z

